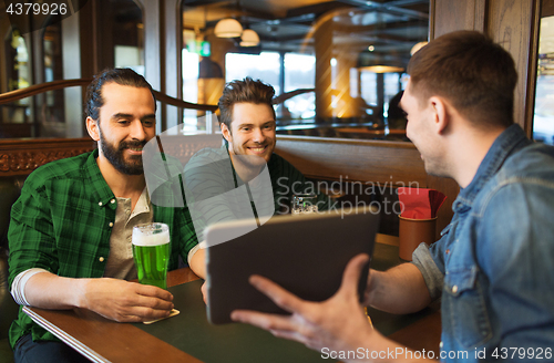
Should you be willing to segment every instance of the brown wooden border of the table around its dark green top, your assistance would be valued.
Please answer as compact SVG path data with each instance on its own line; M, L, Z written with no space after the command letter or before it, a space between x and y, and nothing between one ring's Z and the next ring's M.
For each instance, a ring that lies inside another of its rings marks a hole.
M398 247L398 237L378 235L376 256L381 249ZM168 287L197 280L191 269L171 271ZM196 357L146 333L130 323L106 320L93 312L23 308L38 324L94 362L201 362ZM440 311L434 309L424 318L396 331L389 338L413 350L439 353L441 332Z

